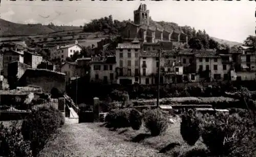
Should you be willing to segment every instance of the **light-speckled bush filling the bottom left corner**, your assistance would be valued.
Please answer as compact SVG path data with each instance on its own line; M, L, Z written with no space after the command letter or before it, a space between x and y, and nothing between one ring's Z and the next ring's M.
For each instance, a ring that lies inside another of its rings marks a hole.
M0 156L32 156L30 143L23 139L17 122L9 128L0 124Z

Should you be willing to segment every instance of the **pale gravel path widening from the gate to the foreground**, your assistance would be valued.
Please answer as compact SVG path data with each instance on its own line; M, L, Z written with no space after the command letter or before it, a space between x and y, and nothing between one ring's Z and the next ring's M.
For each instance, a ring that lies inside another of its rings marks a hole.
M66 119L66 125L54 140L56 145L63 146L55 147L52 143L44 150L51 153L39 156L165 156L158 150L110 136L106 130L102 134L99 131L103 128L96 128L98 124L76 122L77 119Z

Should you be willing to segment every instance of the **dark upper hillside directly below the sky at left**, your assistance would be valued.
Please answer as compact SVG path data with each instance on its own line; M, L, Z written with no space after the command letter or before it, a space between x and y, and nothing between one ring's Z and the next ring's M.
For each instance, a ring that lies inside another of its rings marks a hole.
M2 36L24 36L48 34L60 31L81 30L75 26L47 26L40 24L16 24L0 18L0 28Z

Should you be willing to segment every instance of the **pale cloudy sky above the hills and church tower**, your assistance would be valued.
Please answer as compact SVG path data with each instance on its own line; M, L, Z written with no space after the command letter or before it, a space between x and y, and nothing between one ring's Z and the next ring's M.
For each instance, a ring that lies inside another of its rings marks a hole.
M133 11L143 3L155 21L205 29L212 37L243 42L255 35L255 1L7 1L2 0L0 17L14 23L81 26L91 19L112 15L133 20Z

